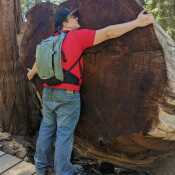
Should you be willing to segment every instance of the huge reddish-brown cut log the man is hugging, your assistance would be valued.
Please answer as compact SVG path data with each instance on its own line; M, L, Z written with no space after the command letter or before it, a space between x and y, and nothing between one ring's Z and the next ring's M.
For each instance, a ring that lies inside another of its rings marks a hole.
M62 5L78 7L82 27L93 29L133 20L142 10L134 0L69 0ZM53 5L44 3L29 12L21 45L24 63L34 61L36 44L54 31L54 11ZM166 36L157 32L163 43ZM169 114L174 109L175 86L168 87L174 77L170 79L167 63L175 63L172 53L164 55L158 38L150 25L85 52L75 142L80 153L141 168L174 150L175 122Z

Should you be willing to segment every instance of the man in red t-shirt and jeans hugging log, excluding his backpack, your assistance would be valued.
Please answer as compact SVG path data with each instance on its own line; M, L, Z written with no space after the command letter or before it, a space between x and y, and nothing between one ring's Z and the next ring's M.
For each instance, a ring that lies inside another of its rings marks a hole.
M55 141L54 168L56 175L74 175L76 168L71 164L73 136L80 115L79 90L82 83L83 59L85 49L100 44L106 40L120 37L121 35L137 28L152 24L154 18L150 14L141 12L138 17L123 24L110 25L99 30L80 29L76 11L61 9L56 14L56 28L67 32L62 45L64 59L62 65L69 69L77 59L79 64L71 70L78 79L78 84L61 83L49 86L44 84L43 89L43 120L36 145L35 165L37 175L44 175L49 166L51 145ZM37 67L28 72L31 80L37 74Z

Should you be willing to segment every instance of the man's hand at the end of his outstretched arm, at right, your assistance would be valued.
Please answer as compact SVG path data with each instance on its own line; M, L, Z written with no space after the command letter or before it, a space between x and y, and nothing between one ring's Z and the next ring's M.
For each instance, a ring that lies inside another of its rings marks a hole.
M147 25L150 25L154 23L154 17L152 14L144 14L145 11L142 11L139 13L136 22L138 27L145 27Z

